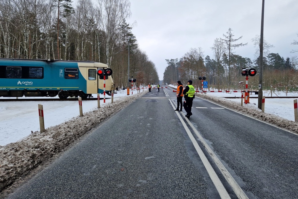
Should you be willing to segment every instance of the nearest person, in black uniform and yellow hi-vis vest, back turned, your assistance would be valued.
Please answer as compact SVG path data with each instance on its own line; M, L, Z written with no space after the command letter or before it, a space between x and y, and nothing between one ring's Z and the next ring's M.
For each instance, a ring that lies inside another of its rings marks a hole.
M184 107L184 110L186 111L185 116L188 119L192 115L191 107L193 105L193 99L195 98L195 88L193 87L192 84L193 84L193 81L188 80L187 86L183 90L183 94L184 94L183 107Z

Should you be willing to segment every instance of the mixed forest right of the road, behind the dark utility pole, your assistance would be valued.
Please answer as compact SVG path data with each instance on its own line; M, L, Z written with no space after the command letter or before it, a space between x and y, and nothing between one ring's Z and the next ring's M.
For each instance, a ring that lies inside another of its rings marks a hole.
M205 56L201 47L190 48L181 58L166 59L167 67L164 71L164 82L176 85L177 80L187 82L193 80L193 85L201 89L202 80L199 77L206 77L208 89L218 90L243 90L246 84L246 77L241 75L242 68L254 68L259 71L260 36L252 38L256 48L254 60L242 57L235 53L235 49L246 45L239 43L242 37L235 38L233 30L229 28L223 38L216 38L213 46L213 56ZM298 36L298 34L297 34ZM294 40L292 45L298 45ZM263 89L271 88L278 91L298 91L298 60L297 55L281 57L278 53L271 53L274 46L264 40L263 43ZM290 53L298 52L293 50ZM297 54L297 53L296 53ZM259 73L249 76L249 89L257 91L259 85ZM206 88L205 88L206 89Z

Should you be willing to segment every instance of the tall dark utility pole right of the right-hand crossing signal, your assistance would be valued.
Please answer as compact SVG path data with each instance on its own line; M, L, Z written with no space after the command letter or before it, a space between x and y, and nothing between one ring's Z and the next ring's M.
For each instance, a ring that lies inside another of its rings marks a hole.
M259 64L259 95L258 95L258 108L262 110L263 98L263 39L264 39L264 4L262 2L262 16L261 16L261 35L260 35L260 64Z

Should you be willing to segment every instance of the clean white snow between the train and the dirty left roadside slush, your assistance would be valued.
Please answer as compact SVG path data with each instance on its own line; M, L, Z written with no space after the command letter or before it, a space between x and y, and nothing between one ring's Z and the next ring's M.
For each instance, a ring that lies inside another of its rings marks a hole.
M145 90L145 89L144 89ZM142 92L142 89L140 89ZM133 95L137 91L133 91ZM127 90L117 91L114 94L114 102L125 97ZM97 98L97 94L92 95ZM40 98L40 97L19 97L18 99ZM49 97L47 97L48 99ZM58 96L54 97L58 98ZM103 94L100 94L103 98ZM100 100L100 107L104 108L111 103L111 96L105 95L105 103ZM15 97L1 97L1 99L15 99ZM69 121L72 118L80 116L78 101L23 101L23 102L0 102L0 146L4 146L31 134L31 131L39 131L38 104L43 105L45 129L51 126ZM86 112L97 109L97 100L82 100L83 115Z

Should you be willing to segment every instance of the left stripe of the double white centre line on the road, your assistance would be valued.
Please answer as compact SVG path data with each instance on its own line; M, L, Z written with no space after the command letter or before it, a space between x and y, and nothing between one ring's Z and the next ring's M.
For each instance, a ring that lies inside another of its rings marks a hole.
M175 109L175 106L173 104L173 102L169 99L170 103L172 104L173 109ZM195 147L195 150L197 151L198 155L200 156L215 188L218 191L218 194L220 195L220 197L222 199L231 199L228 192L226 191L226 189L224 188L224 185L221 183L220 179L218 178L218 176L216 175L214 169L212 168L210 162L208 161L207 157L204 155L204 152L201 150L198 142L195 140L195 138L193 137L193 134L190 132L189 128L187 127L186 123L184 122L184 120L182 119L181 115L179 114L179 111L175 111L176 114L178 115L184 129L187 132L187 135L189 136L190 140L193 142L193 146ZM188 119L187 119L188 120ZM188 122L190 123L190 122Z

